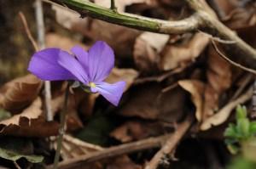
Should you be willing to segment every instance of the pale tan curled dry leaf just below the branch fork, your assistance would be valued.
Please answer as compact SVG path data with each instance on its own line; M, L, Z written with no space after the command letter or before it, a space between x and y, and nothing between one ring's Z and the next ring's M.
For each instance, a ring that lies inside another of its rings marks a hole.
M207 47L209 37L196 33L188 42L167 45L160 56L160 70L172 70L195 61Z

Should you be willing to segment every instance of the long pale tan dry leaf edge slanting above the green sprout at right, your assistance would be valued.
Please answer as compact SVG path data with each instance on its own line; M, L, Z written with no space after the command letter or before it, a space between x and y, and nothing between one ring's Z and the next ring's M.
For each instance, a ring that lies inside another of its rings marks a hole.
M232 110L234 110L238 104L245 103L247 100L251 99L252 96L253 90L252 88L249 88L246 93L243 93L239 98L231 101L229 104L226 104L224 108L219 110L216 114L203 121L201 124L201 130L208 130L212 126L217 126L224 123L224 121L226 121L230 116Z

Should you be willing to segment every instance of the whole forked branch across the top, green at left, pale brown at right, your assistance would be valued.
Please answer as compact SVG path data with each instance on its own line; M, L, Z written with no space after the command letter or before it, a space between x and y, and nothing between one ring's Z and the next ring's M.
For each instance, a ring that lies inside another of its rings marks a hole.
M205 31L213 37L234 41L234 44L222 44L229 52L230 59L240 65L256 70L256 50L242 41L234 31L222 24L204 0L186 0L195 10L189 18L177 21L156 20L136 14L119 13L85 0L52 0L79 12L81 17L90 16L116 25L124 25L142 31L166 34L181 34L191 31Z

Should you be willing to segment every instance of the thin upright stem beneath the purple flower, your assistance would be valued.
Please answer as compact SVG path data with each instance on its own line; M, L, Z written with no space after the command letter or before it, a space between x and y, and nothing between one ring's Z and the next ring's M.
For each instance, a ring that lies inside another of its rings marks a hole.
M65 122L66 122L66 115L67 115L68 93L69 93L69 83L67 84L63 109L62 109L62 112L61 112L61 126L60 126L60 129L59 129L59 135L58 135L58 140L57 140L57 149L56 149L56 152L55 152L55 161L54 161L53 169L57 168L59 160L60 160L60 155L61 155L61 144L62 144L63 135L65 133Z

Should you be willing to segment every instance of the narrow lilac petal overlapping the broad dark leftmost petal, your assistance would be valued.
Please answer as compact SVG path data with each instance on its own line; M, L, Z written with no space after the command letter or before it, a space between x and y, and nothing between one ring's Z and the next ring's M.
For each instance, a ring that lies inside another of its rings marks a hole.
M69 70L80 82L88 84L88 76L79 61L65 51L60 51L58 63Z

